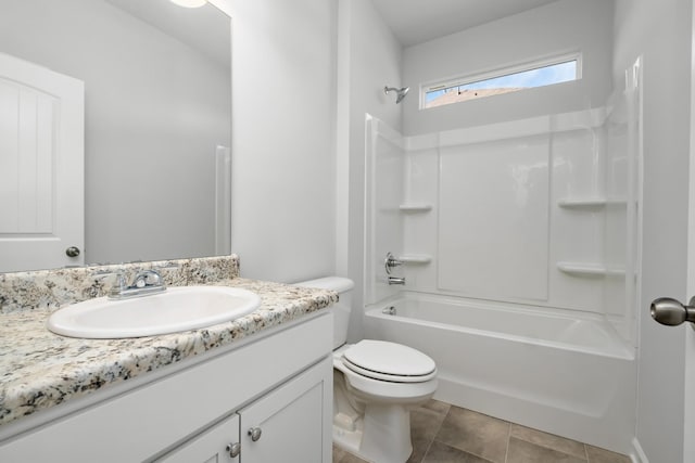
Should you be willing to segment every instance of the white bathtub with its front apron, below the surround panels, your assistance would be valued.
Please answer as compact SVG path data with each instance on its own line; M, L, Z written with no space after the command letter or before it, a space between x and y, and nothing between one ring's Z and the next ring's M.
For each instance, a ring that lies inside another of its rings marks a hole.
M434 359L435 399L630 453L634 350L601 316L404 293L365 332Z

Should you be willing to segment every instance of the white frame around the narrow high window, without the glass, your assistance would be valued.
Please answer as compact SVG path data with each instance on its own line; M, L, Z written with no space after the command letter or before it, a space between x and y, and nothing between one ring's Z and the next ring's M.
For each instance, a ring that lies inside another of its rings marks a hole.
M526 61L523 63L519 63L519 64L515 64L511 66L504 66L504 67L496 67L494 69L490 69L490 70L483 70L483 72L478 72L475 74L467 74L465 76L457 76L457 77L453 77L453 78L448 78L448 79L437 79L437 80L431 80L429 82L425 82L420 85L420 101L419 101L419 110L433 110L435 107L441 107L441 106L432 106L432 107L427 107L427 93L428 92L432 92L432 91L437 91L437 90L444 90L444 89L448 89L448 88L455 88L455 87L462 87L462 86L466 86L469 83L476 83L476 82L480 82L480 81L484 81L484 80L491 80L491 79L495 79L498 77L505 77L505 76L509 76L513 74L518 74L518 73L523 73L527 70L533 70L533 69L540 69L543 67L549 67L549 66L554 66L557 64L563 64L563 63L569 63L569 62L577 62L577 69L576 69L576 76L574 76L574 80L570 80L570 81L577 81L580 80L582 78L582 68L583 68L583 63L582 63L582 53L580 51L576 51L576 52L571 52L571 53L564 53L564 54L558 54L558 55L553 55L553 56L548 56L548 57L543 57L540 60L533 60L533 61ZM566 81L567 82L567 81ZM542 87L549 87L549 86L554 86L557 83L565 83L565 82L555 82L555 83L547 83L544 86L539 86L539 87L529 87L529 88L542 88ZM523 89L523 90L528 90L528 89ZM488 97L480 97L480 98L488 98ZM478 100L478 99L476 99ZM468 100L470 101L470 100ZM465 103L464 101L460 102L456 102L456 103ZM451 104L455 104L455 103L450 103L450 104L445 104L443 106L448 106Z

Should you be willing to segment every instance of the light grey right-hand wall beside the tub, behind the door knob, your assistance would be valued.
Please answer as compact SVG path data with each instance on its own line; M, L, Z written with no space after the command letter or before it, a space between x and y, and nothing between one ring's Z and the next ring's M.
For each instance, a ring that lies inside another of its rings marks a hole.
M650 320L648 305L660 296L687 296L691 20L688 0L617 2L616 81L622 79L622 69L644 54L644 226L636 437L652 463L684 461L684 333L690 329L658 325Z

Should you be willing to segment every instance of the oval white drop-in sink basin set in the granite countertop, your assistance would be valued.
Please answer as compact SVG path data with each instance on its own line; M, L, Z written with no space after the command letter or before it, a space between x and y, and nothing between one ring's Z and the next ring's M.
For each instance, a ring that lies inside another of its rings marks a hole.
M48 329L86 338L152 336L235 320L260 305L256 294L238 287L168 287L131 299L99 297L63 307L48 319Z

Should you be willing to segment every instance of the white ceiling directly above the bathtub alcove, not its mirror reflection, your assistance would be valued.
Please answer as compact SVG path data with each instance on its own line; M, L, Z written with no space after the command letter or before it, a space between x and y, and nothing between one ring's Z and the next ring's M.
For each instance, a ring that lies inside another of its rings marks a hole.
M372 0L403 47L447 36L556 0Z

